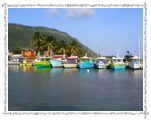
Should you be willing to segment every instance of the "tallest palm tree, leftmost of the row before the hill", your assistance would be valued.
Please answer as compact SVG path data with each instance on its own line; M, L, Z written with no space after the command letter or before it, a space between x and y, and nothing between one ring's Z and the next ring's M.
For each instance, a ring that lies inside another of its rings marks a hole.
M40 43L42 42L40 33L39 33L39 32L34 32L34 33L31 35L31 38L32 38L32 40L30 41L30 43L31 43L30 46L32 46L32 45L36 46L36 47L35 47L35 50L38 51L38 54L39 54Z

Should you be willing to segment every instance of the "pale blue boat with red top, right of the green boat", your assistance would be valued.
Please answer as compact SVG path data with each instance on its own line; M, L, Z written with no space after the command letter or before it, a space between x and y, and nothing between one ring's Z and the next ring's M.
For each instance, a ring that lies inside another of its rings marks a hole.
M62 62L65 62L66 55L54 55L53 59L50 59L49 62L51 63L53 68L63 68Z

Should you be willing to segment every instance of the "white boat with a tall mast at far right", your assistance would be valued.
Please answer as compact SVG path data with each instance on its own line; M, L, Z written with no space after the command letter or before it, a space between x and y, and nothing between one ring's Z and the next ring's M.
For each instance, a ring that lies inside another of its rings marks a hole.
M140 37L139 37L139 57L136 56L136 51L135 51L135 56L131 58L131 63L129 63L129 68L131 69L141 69L143 68L143 63L140 62Z

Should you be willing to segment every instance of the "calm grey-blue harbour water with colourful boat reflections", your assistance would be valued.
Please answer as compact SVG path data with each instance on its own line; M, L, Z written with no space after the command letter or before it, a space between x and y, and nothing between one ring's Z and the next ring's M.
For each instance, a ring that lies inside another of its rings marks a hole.
M8 111L143 111L143 70L8 65Z

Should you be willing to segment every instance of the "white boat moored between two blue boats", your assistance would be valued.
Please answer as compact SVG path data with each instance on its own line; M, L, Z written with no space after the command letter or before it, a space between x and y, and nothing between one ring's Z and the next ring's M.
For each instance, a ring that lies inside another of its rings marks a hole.
M97 68L107 68L107 59L106 57L103 57L103 50L101 51L101 57L98 57L96 60L96 67Z

